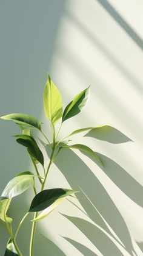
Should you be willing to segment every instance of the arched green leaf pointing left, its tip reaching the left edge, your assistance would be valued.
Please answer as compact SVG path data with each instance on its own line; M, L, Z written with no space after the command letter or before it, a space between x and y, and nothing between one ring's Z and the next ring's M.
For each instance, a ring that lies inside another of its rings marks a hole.
M41 123L33 116L25 115L22 113L13 113L6 116L1 116L1 119L12 120L19 126L33 127L41 130Z

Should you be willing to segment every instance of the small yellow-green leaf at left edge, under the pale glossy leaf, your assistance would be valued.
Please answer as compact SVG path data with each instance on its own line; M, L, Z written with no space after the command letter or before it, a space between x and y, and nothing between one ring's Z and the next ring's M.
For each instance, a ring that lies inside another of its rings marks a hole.
M7 216L7 210L10 206L11 199L0 199L0 219L2 221L8 222L8 224L12 223L12 218Z

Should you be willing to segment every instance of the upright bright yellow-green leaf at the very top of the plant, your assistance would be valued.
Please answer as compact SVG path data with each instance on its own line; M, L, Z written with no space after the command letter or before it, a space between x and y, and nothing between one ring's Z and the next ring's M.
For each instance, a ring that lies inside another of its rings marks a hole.
M50 76L45 84L43 101L45 116L55 124L62 117L62 98Z

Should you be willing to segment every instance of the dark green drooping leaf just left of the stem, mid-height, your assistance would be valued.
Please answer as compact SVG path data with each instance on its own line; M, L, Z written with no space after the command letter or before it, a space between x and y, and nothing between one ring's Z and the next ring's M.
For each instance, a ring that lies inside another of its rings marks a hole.
M32 155L33 158L38 160L38 162L40 162L41 165L44 165L44 157L42 155L41 150L38 147L38 144L36 143L33 137L24 134L15 135L15 137L18 138L16 141L19 144L27 148L28 153Z

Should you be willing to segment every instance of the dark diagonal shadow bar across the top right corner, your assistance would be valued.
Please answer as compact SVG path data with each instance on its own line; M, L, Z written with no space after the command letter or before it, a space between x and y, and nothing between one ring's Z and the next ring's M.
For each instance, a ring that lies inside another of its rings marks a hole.
M112 16L112 18L122 27L122 29L127 32L130 38L138 44L139 48L143 50L143 40L139 35L131 28L131 26L122 18L121 15L109 4L107 0L96 0L99 4L107 10L108 13Z

